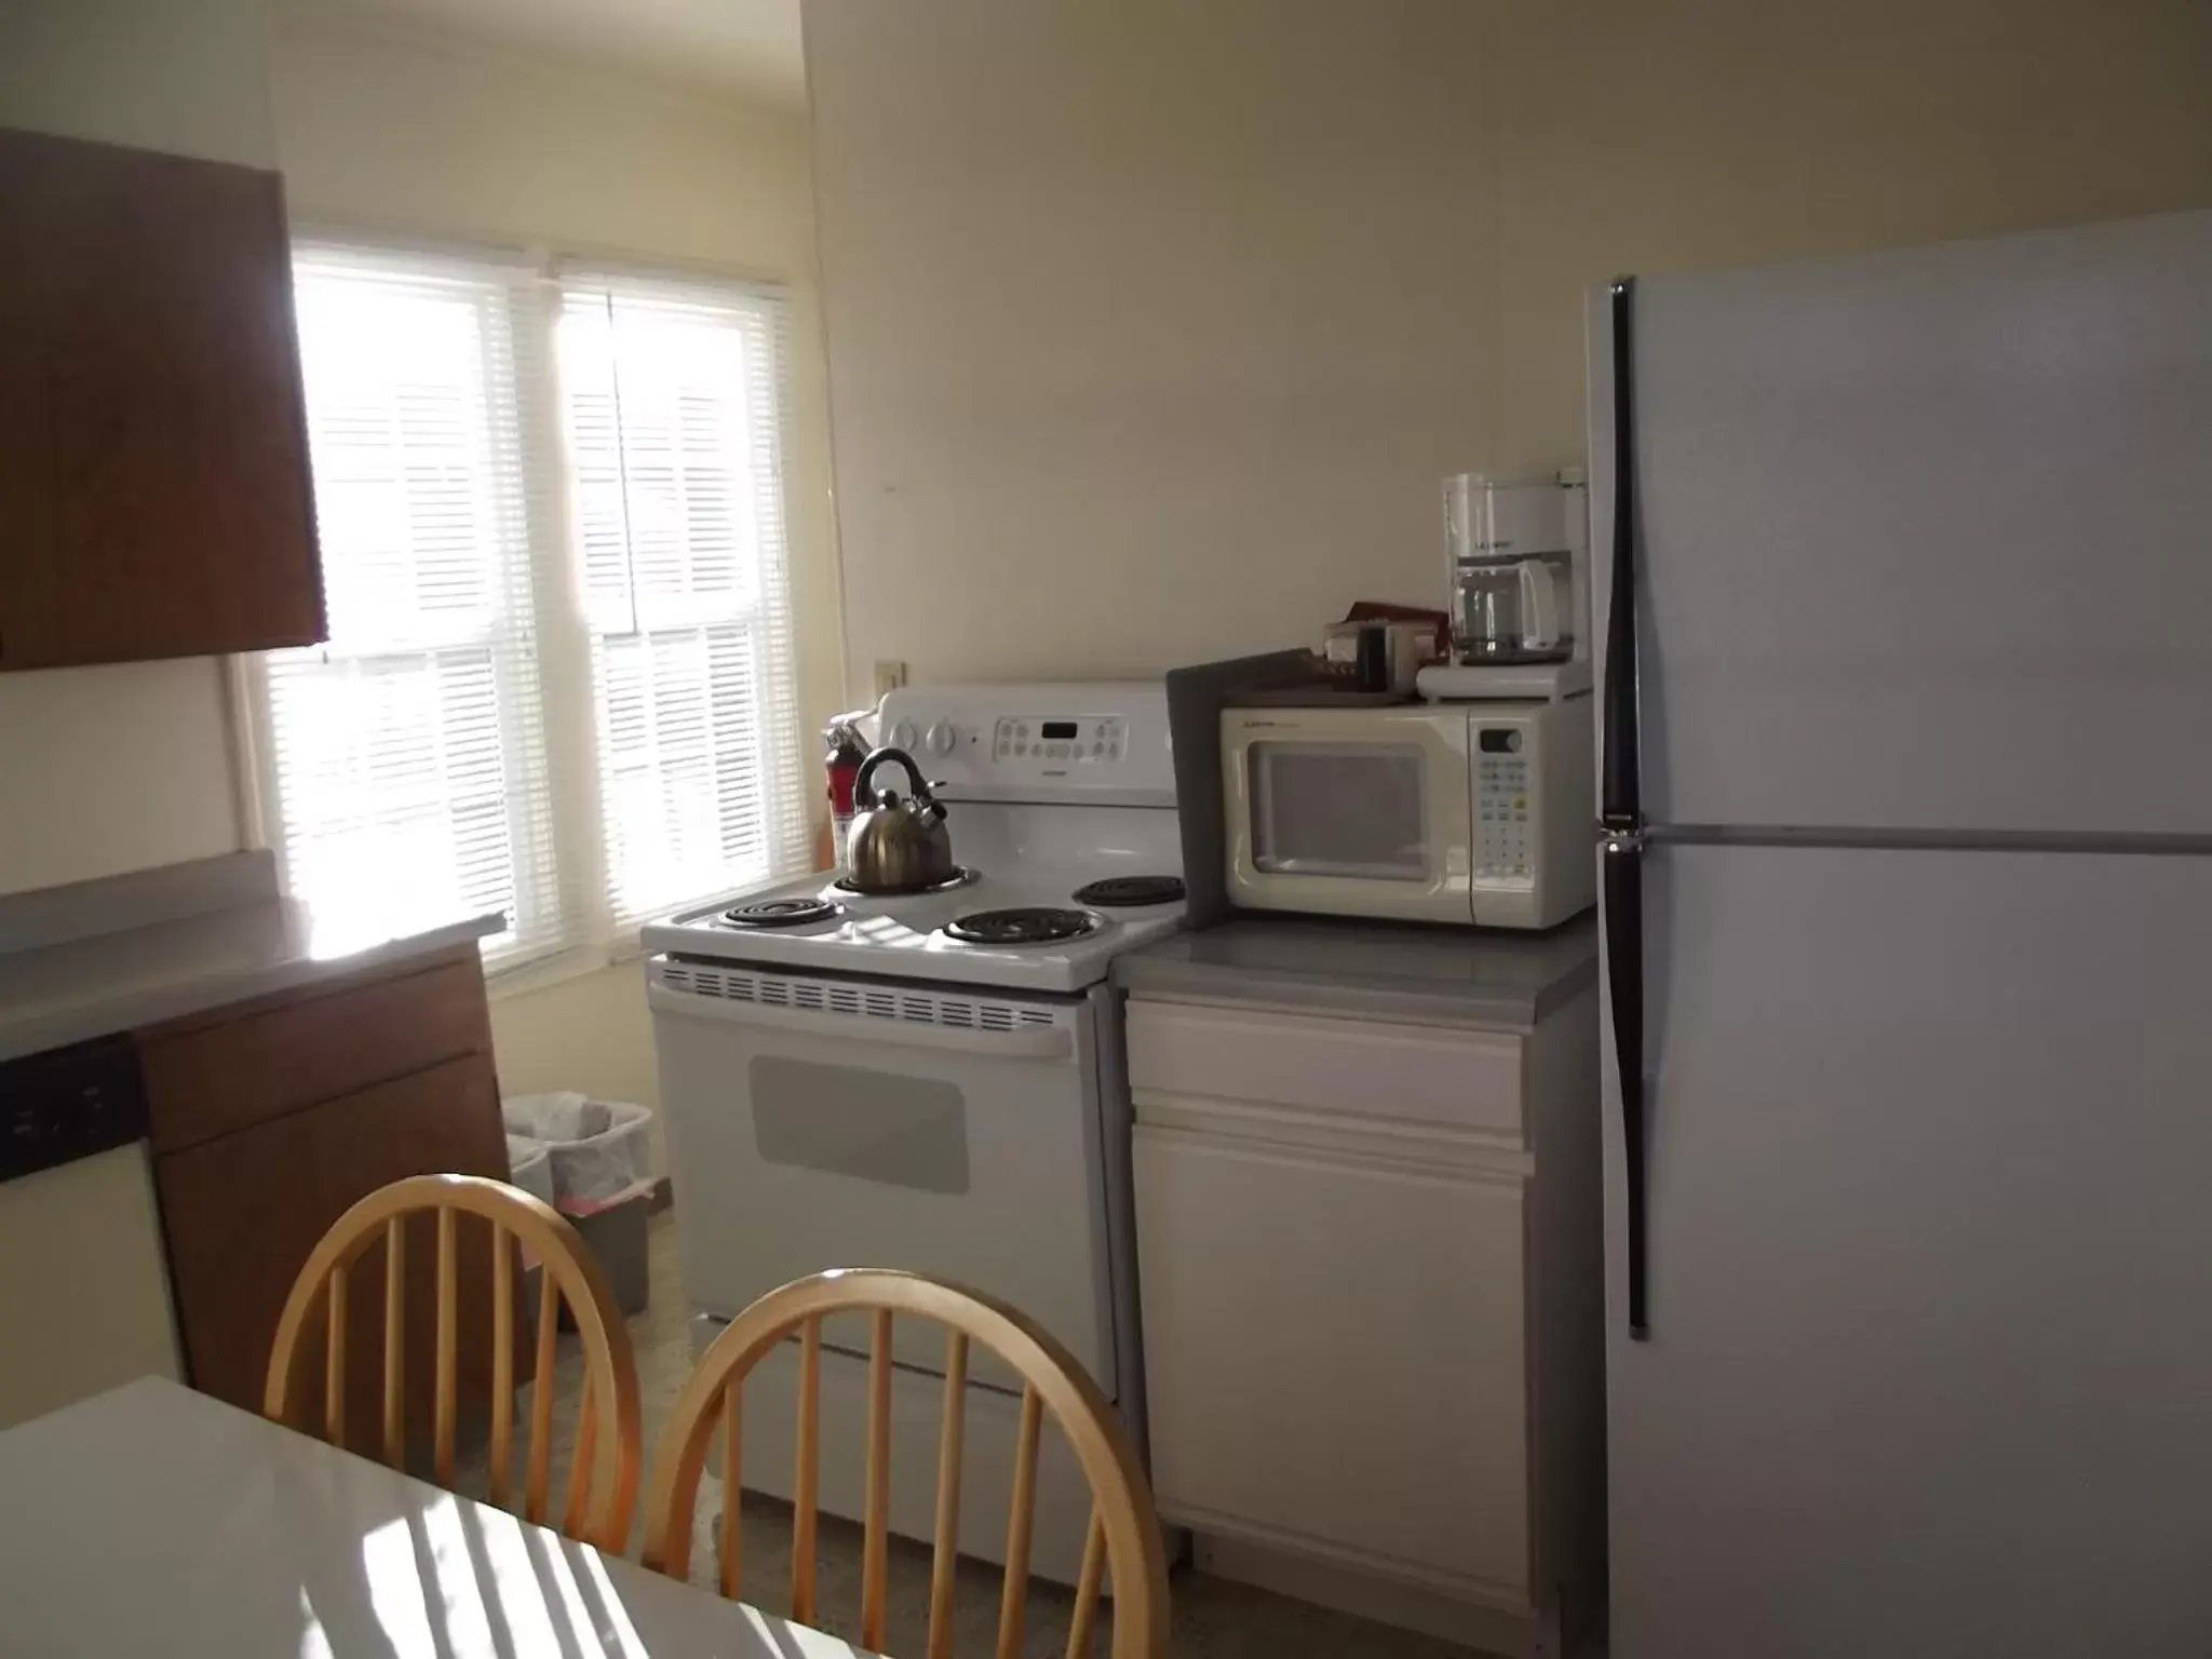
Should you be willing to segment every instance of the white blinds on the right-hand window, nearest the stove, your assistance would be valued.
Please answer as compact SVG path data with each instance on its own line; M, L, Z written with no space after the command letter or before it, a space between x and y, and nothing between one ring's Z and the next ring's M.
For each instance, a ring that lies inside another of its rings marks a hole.
M783 301L562 281L560 378L617 927L810 863Z

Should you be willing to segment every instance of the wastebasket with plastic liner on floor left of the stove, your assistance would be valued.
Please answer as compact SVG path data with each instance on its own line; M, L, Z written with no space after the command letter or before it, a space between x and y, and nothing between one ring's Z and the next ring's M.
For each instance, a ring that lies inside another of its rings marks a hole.
M546 1152L553 1208L599 1259L615 1303L641 1314L653 1298L646 1217L653 1208L653 1113L573 1091L502 1102L507 1133ZM520 1181L518 1181L520 1186ZM562 1310L566 1321L566 1307Z

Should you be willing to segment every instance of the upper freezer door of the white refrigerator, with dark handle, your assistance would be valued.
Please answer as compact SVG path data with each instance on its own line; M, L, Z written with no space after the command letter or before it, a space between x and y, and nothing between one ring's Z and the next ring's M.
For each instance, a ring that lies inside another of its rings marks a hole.
M1641 279L1650 818L2212 834L2208 296L2212 212Z

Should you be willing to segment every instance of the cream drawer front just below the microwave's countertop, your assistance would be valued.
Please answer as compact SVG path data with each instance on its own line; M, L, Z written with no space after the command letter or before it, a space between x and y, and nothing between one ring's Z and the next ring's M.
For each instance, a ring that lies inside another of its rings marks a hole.
M1522 1135L1522 1042L1491 1031L1133 1000L1128 1079L1139 1093Z

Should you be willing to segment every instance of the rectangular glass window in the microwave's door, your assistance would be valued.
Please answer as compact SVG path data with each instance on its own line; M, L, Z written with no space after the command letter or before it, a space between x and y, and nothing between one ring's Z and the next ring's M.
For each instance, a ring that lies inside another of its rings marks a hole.
M1427 768L1413 743L1259 741L1252 865L1272 876L1427 880Z

